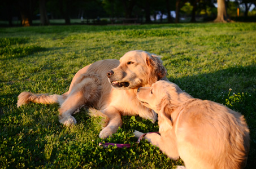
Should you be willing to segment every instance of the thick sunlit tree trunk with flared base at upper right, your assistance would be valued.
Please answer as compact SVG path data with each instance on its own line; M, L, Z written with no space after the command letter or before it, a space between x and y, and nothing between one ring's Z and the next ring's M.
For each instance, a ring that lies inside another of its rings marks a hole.
M227 10L225 7L225 0L217 0L218 3L218 15L216 19L214 20L215 23L227 23L227 21L230 21L227 17Z

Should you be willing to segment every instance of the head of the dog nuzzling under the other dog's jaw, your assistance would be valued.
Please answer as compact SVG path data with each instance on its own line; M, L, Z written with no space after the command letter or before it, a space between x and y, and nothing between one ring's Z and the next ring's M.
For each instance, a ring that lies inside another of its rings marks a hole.
M173 110L192 96L183 92L175 83L158 81L151 87L138 88L137 98L143 105L158 113L159 126L160 123L164 123L170 127L172 126L171 113Z

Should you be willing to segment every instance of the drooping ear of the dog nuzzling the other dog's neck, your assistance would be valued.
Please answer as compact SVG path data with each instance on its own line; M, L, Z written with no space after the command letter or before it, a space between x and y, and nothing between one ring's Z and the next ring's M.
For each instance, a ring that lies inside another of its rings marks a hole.
M172 123L172 106L167 98L163 98L158 107L158 124L159 124L159 131L167 131L171 130L173 123Z

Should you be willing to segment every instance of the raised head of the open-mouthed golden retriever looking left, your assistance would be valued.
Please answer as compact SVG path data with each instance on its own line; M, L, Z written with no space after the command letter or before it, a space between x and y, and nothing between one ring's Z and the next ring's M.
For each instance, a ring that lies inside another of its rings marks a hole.
M119 66L107 73L112 87L122 90L151 86L165 75L160 57L145 51L127 52L120 58Z

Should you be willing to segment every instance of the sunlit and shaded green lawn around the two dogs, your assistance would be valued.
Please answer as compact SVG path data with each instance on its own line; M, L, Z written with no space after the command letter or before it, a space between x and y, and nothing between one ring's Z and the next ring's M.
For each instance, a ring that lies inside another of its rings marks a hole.
M16 108L20 92L63 94L73 75L101 59L145 50L163 56L167 77L190 95L216 101L245 115L256 158L256 24L163 24L137 26L33 26L0 28L0 168L175 168L158 148L142 141L129 149L99 142L135 143L134 130L157 123L123 117L109 139L98 137L99 118L87 110L77 125L58 122L58 105ZM229 88L232 90L230 91Z

